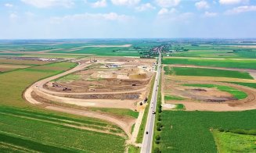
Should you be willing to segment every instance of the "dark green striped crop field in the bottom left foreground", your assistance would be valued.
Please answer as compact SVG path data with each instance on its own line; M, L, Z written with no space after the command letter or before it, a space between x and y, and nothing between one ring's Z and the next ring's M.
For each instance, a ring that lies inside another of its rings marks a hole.
M117 126L111 126L97 119L71 118L3 106L0 107L0 114L1 143L13 144L35 151L51 149L53 151L85 152L124 151L124 137L78 128L90 127L103 130L109 126L116 133L122 131ZM26 140L27 143L23 140ZM95 147L96 144L100 144L100 146Z

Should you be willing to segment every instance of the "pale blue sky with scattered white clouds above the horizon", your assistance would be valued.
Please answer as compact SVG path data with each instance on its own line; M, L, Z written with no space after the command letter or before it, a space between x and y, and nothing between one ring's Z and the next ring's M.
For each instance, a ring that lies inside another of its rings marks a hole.
M256 0L1 0L0 39L256 37Z

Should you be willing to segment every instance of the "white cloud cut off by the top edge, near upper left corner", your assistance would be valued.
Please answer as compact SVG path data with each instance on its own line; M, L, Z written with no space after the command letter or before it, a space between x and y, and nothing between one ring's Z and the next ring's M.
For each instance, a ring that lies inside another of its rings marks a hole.
M73 0L21 0L21 2L38 8L49 8L52 6L63 6L69 8L74 5Z

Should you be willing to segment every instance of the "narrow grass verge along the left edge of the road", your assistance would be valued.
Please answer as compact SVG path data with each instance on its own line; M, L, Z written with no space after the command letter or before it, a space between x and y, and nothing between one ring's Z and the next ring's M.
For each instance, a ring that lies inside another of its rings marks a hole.
M142 143L142 140L143 140L143 136L144 136L144 133L145 133L145 126L146 126L146 119L147 119L149 109L150 109L149 104L150 104L150 101L151 101L151 98L152 98L153 84L154 84L155 79L156 79L156 76L154 76L152 78L152 81L151 81L150 94L148 96L148 101L147 101L148 104L146 105L146 109L144 111L144 115L143 115L143 118L142 118L142 123L140 124L140 127L139 127L139 133L138 133L138 136L137 136L137 139L136 139L136 143Z

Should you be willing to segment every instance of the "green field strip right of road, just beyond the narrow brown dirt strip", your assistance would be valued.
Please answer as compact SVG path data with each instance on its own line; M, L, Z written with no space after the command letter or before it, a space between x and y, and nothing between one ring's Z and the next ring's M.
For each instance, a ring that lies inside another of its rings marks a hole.
M164 58L163 64L186 64L195 66L218 66L239 69L256 69L256 60L254 59L175 59Z

